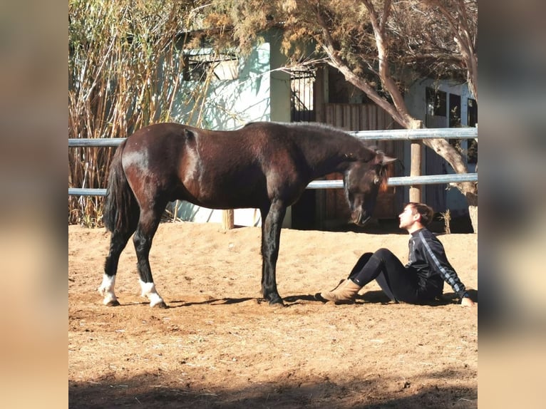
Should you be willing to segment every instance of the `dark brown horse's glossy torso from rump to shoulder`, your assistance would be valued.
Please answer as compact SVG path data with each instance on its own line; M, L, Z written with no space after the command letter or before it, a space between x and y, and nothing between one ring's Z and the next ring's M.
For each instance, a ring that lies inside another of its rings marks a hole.
M127 139L123 167L135 194L145 185L154 189L148 196L205 207L262 207L277 194L271 179L283 185L293 167L285 138L262 128L212 131L161 123Z

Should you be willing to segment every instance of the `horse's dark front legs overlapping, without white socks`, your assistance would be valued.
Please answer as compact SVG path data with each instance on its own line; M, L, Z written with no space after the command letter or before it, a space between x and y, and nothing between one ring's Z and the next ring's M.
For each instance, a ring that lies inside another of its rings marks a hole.
M269 304L281 304L281 296L277 291L277 259L279 258L279 243L282 220L287 207L277 200L272 202L269 211L262 209L262 295Z

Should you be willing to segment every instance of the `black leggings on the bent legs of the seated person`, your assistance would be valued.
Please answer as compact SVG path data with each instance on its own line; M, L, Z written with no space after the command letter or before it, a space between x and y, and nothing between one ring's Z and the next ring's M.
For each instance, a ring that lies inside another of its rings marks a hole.
M418 304L418 277L406 268L388 249L378 249L374 254L364 253L354 265L349 279L359 286L376 280L391 301Z

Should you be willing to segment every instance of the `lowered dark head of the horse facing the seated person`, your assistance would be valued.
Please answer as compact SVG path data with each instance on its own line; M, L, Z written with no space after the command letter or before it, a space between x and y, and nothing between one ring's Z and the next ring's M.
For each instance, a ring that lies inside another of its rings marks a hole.
M364 226L376 207L379 188L387 182L386 166L396 158L377 151L372 160L355 160L344 175L345 197L351 209L351 221Z

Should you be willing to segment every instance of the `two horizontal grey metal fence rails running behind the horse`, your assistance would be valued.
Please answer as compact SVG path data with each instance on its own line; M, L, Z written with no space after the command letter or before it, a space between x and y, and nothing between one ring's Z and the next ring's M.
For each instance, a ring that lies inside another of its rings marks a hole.
M347 132L361 140L422 140L433 138L473 139L478 138L478 128L423 128L416 130L359 130ZM125 138L68 139L68 147L115 147ZM389 177L388 186L443 185L447 183L478 182L478 173L450 175L425 175ZM314 180L307 189L339 189L342 180ZM106 189L69 187L68 195L105 196Z

